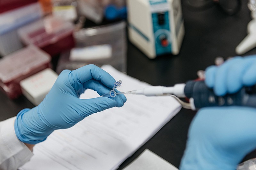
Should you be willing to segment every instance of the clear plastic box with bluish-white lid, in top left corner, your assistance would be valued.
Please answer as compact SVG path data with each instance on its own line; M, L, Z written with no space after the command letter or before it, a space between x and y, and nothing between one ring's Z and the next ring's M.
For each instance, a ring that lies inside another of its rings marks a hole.
M17 29L42 16L39 3L26 5L0 14L0 55L23 47Z

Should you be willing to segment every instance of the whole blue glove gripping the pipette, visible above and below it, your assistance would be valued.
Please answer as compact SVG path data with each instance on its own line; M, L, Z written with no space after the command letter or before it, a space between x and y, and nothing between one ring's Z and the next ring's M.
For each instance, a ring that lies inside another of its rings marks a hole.
M206 69L205 82L217 95L256 83L256 56L235 57ZM256 148L256 109L207 107L191 122L180 170L235 170Z

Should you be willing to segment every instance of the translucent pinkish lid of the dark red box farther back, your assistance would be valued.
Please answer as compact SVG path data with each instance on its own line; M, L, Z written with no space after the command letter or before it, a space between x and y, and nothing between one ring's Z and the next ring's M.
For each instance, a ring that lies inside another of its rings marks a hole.
M63 37L73 33L74 25L61 18L47 16L18 30L18 34L26 45L34 44L44 47L54 44Z

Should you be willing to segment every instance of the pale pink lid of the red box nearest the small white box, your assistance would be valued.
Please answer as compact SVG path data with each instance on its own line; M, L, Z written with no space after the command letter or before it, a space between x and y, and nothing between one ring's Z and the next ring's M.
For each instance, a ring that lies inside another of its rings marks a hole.
M29 45L0 59L0 80L3 83L11 82L50 61L49 54Z

